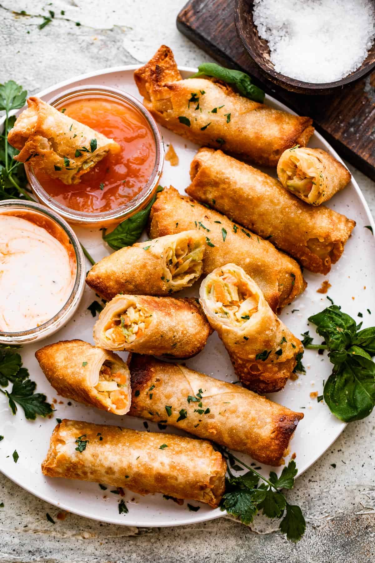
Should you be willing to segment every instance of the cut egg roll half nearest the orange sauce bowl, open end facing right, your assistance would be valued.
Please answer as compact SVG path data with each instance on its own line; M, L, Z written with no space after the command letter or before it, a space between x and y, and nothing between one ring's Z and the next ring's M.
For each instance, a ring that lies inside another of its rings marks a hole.
M169 295L200 277L205 242L194 230L121 248L97 262L86 283L106 301L118 293Z

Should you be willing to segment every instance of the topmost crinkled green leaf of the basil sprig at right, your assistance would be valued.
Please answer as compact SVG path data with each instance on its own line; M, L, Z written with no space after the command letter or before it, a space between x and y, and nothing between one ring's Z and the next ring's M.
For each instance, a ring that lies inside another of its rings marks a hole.
M355 337L355 320L337 305L331 305L317 315L310 316L309 322L317 325L317 333L323 336L330 351L350 346Z

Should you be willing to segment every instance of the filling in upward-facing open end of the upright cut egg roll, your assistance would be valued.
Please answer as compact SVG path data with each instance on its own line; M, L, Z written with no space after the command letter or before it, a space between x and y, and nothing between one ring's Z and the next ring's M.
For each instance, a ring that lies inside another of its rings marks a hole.
M259 306L259 295L252 292L239 272L221 271L206 285L206 296L215 315L241 327Z

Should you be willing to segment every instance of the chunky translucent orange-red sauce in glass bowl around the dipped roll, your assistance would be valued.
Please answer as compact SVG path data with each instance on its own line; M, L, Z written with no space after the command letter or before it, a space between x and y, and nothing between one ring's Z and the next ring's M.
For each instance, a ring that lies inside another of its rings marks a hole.
M155 166L155 140L146 119L129 104L107 98L80 99L64 107L65 115L114 139L121 151L107 154L78 184L67 185L38 171L44 190L58 203L83 212L110 211L132 200Z

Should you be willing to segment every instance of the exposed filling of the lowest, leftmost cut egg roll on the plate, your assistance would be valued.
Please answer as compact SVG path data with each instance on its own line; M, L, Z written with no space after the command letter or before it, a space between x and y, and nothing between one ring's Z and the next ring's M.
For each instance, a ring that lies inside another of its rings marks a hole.
M110 360L106 360L99 372L99 381L95 386L99 394L110 400L116 409L125 409L128 406L128 375L123 369Z

